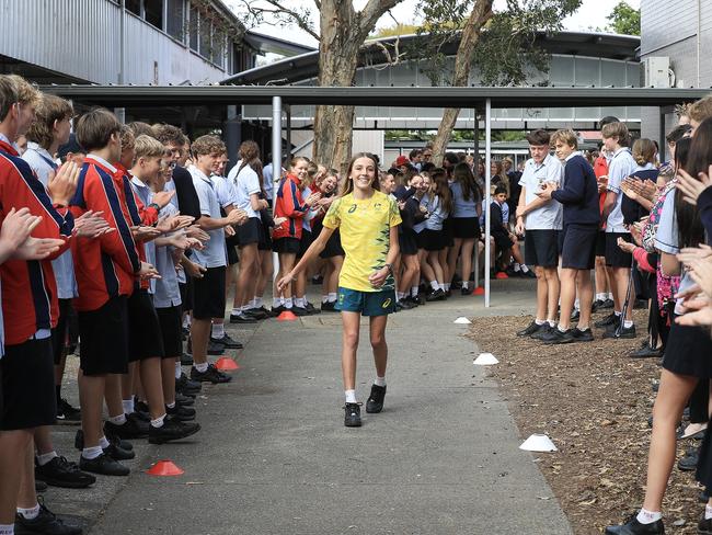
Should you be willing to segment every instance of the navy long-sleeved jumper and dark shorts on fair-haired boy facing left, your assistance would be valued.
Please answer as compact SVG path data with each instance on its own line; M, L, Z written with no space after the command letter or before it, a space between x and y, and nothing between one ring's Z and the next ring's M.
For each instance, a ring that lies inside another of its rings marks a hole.
M581 152L566 158L563 189L554 191L551 196L563 205L562 268L593 270L600 221L598 184L594 169Z

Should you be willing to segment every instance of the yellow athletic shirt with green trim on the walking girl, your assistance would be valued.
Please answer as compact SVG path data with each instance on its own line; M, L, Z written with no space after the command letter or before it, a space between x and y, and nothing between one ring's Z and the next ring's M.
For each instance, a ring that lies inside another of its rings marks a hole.
M380 288L371 286L368 277L386 264L390 228L401 224L395 201L379 191L366 200L356 200L349 193L331 204L323 224L340 229L341 246L346 253L338 275L341 287L359 292L393 289L392 275Z

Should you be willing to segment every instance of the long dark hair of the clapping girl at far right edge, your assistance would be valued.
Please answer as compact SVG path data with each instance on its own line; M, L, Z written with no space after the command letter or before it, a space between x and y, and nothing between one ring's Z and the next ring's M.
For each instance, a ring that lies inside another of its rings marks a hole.
M684 147L685 138L675 146L675 160L678 160L678 150ZM689 153L680 156L687 162L685 169L690 177L699 180L700 173L708 173L712 164L712 118L705 118L700 123L689 146ZM679 169L679 168L678 168ZM700 213L697 206L686 203L682 192L675 192L675 216L677 217L678 243L679 247L697 247L704 243L704 227L700 220Z

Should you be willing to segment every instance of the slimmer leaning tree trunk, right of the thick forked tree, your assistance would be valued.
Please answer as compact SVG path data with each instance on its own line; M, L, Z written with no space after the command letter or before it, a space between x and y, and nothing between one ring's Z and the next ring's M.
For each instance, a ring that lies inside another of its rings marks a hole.
M482 26L492 18L492 3L493 0L476 0L472 8L472 13L470 13L470 18L462 29L460 45L455 58L452 87L464 87L468 83L474 48L480 41L480 32L482 32ZM448 107L443 113L440 126L437 129L435 139L433 139L433 161L436 164L443 164L443 157L459 114L459 107Z

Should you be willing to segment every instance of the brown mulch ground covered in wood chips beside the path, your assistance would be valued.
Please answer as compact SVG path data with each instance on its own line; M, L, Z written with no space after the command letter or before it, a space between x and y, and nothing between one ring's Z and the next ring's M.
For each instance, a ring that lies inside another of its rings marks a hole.
M504 388L522 440L546 433L559 448L537 462L574 533L602 533L643 502L659 367L657 358L627 355L643 341L646 312L635 311L635 340L604 340L596 330L595 342L565 345L516 337L531 319L474 318L468 337L499 361L487 371ZM678 457L689 445L678 442ZM669 533L697 533L700 490L692 474L674 468L663 508Z

